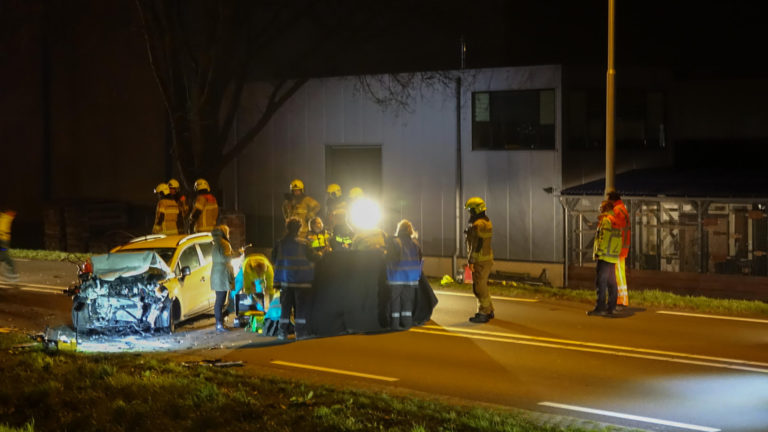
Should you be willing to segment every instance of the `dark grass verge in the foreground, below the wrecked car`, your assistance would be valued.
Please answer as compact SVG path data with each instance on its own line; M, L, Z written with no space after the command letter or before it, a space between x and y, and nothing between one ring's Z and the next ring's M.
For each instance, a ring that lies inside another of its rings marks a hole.
M339 390L161 356L12 348L0 334L0 431L543 431L519 411ZM4 429L3 429L4 428ZM597 423L574 432L605 430Z

